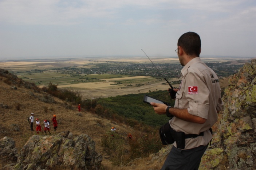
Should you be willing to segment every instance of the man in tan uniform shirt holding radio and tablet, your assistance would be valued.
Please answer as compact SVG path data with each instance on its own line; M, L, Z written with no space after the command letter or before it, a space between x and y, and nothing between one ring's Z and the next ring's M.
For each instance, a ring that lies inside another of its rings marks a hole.
M212 139L210 128L216 123L217 112L223 105L221 88L215 72L199 58L201 40L197 33L183 34L176 52L184 68L180 87L170 91L170 95L176 93L174 107L150 104L158 114L173 115L169 123L175 134L179 134L175 135L174 147L161 170L194 170L199 168Z

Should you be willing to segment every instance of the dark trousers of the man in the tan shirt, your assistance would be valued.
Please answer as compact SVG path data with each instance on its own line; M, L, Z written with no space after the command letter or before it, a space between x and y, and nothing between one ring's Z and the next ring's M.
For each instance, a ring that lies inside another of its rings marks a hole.
M198 170L206 146L181 150L172 147L161 170Z

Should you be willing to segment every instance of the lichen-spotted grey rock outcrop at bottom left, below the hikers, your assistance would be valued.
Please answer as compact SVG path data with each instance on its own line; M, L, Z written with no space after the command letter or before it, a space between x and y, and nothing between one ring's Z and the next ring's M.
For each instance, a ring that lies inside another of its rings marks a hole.
M11 168L14 170L98 170L101 167L102 156L95 152L95 142L87 134L75 137L66 131L52 136L33 135L21 149L18 158L13 156L17 151L10 154L6 147L1 152L5 150L5 156L16 158L17 162ZM14 147L9 149L13 150Z

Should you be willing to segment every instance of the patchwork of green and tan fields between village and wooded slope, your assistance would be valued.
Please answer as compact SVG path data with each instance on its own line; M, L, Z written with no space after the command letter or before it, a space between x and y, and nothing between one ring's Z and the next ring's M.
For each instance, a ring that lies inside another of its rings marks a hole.
M49 82L52 82L58 84L58 88L72 88L79 91L84 98L106 98L155 90L167 90L169 88L167 84L162 84L165 81L150 76L97 74L71 76L58 72L43 72L21 74L18 77L28 82L40 82L42 85L39 85L39 87L47 86ZM86 78L93 79L86 80Z

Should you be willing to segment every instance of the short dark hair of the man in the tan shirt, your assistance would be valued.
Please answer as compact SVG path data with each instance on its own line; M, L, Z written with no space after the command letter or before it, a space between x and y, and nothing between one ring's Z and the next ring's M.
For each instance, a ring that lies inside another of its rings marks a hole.
M178 40L178 46L181 46L187 55L199 57L201 49L200 36L194 32L184 33Z

